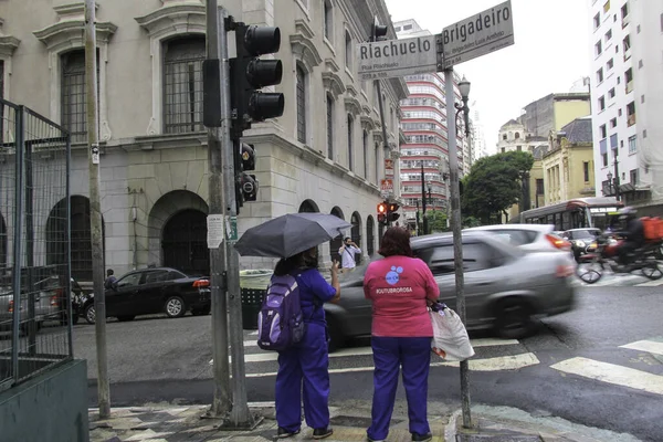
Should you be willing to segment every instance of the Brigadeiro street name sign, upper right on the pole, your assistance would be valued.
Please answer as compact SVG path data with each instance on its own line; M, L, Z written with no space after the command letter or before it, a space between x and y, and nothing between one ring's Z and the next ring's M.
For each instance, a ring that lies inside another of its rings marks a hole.
M444 28L444 69L514 44L511 0Z

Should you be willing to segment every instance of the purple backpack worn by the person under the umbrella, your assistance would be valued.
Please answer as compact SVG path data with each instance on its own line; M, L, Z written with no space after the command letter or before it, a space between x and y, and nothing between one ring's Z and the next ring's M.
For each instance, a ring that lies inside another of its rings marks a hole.
M282 351L304 337L299 286L293 275L272 276L257 314L257 346Z

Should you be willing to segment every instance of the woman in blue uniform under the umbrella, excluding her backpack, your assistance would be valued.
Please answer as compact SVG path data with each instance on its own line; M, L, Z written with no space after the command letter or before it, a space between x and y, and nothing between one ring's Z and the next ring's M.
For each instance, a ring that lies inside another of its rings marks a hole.
M318 271L317 248L308 249L292 257L282 259L274 274L295 276L299 287L302 313L306 332L302 341L278 352L276 375L276 436L298 434L302 427L302 391L304 417L313 428L313 439L332 435L329 427L329 352L327 323L323 304L340 298L338 262L332 265L332 284Z

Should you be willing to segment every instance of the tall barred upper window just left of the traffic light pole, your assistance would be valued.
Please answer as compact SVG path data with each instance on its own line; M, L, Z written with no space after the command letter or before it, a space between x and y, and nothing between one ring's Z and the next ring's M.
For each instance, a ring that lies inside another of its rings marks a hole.
M166 134L204 130L202 125L202 61L204 36L164 44L164 129Z

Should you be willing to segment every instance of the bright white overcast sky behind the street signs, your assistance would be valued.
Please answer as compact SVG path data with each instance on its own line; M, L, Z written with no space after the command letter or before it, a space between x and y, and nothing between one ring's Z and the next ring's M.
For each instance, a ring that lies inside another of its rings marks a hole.
M386 0L391 20L414 19L433 34L444 27L502 3L501 0ZM499 126L527 104L569 92L589 75L587 0L512 0L515 44L461 63L455 71L472 83L490 154Z

